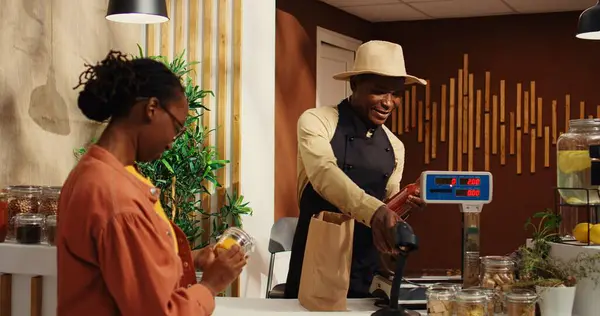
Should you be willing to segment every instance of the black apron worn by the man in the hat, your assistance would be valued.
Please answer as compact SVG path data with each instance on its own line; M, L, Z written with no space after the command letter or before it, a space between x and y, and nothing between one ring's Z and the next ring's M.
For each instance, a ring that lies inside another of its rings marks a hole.
M369 129L352 111L347 100L339 104L338 110L339 121L331 140L338 167L367 194L384 200L388 178L395 167L394 151L386 132L379 126L373 130L371 137L367 137ZM300 216L285 286L286 298L298 297L310 219L324 210L339 212L309 183L300 198ZM369 296L373 274L379 266L378 260L371 229L355 222L349 298Z

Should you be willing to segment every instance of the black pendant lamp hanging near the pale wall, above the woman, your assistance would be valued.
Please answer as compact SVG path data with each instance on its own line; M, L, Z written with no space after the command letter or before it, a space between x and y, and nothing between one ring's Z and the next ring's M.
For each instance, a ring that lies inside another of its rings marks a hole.
M121 23L155 24L169 21L165 0L110 0L106 19Z

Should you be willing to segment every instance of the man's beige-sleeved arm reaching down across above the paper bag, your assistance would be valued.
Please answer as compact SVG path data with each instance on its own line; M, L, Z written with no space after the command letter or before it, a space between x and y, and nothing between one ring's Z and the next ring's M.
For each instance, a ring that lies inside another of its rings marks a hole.
M330 140L337 126L337 109L311 109L298 120L298 151L315 191L343 213L369 226L385 205L357 186L337 165Z

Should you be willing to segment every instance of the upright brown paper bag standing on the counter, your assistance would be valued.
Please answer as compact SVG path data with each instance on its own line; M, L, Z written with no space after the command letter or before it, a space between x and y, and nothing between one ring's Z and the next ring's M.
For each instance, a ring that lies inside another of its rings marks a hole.
M345 311L354 220L323 211L310 220L298 300L309 311Z

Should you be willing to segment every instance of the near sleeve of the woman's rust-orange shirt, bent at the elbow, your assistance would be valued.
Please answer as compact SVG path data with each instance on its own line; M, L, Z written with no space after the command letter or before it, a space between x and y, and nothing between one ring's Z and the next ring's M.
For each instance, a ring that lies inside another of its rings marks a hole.
M160 237L139 210L120 212L101 230L100 269L120 313L212 314L214 293L201 284L179 287L180 263Z

